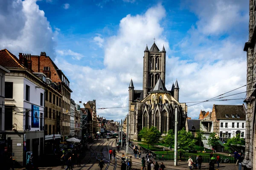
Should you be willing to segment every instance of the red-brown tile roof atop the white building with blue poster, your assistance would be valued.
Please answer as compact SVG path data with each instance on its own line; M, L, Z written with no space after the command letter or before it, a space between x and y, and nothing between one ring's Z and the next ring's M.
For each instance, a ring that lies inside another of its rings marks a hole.
M6 49L0 50L0 65L4 67L25 68L16 56Z

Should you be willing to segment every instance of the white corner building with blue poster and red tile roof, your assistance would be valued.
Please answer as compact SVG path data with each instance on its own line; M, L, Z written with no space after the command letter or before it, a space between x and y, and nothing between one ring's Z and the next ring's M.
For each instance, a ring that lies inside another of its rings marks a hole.
M10 70L5 77L5 131L13 158L26 164L28 152L35 158L44 152L44 89L46 83L31 71L29 55L19 59L8 50L0 51L0 65Z

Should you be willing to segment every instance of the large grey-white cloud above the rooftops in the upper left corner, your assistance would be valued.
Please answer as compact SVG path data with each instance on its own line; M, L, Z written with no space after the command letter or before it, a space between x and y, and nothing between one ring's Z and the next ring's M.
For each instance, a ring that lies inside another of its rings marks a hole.
M0 6L0 48L7 48L16 56L18 53L40 54L55 58L58 30L52 28L40 10L36 0L1 0Z

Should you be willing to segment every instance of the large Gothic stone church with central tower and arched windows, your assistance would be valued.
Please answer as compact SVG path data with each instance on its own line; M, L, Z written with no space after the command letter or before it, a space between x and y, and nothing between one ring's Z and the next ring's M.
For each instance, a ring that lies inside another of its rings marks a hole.
M134 90L131 80L129 85L129 136L138 140L138 133L143 127L151 126L164 135L175 127L175 108L178 113L178 129L185 127L187 117L186 103L179 102L179 85L176 80L172 89L165 87L166 51L160 51L154 44L148 50L146 45L143 57L143 90Z

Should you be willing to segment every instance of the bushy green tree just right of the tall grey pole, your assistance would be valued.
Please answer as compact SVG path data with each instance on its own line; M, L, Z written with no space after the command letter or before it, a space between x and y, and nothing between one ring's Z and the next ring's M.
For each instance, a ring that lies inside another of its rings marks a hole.
M183 127L182 130L178 131L178 151L185 152L186 150L195 149L196 140L193 139L192 133L187 132Z

